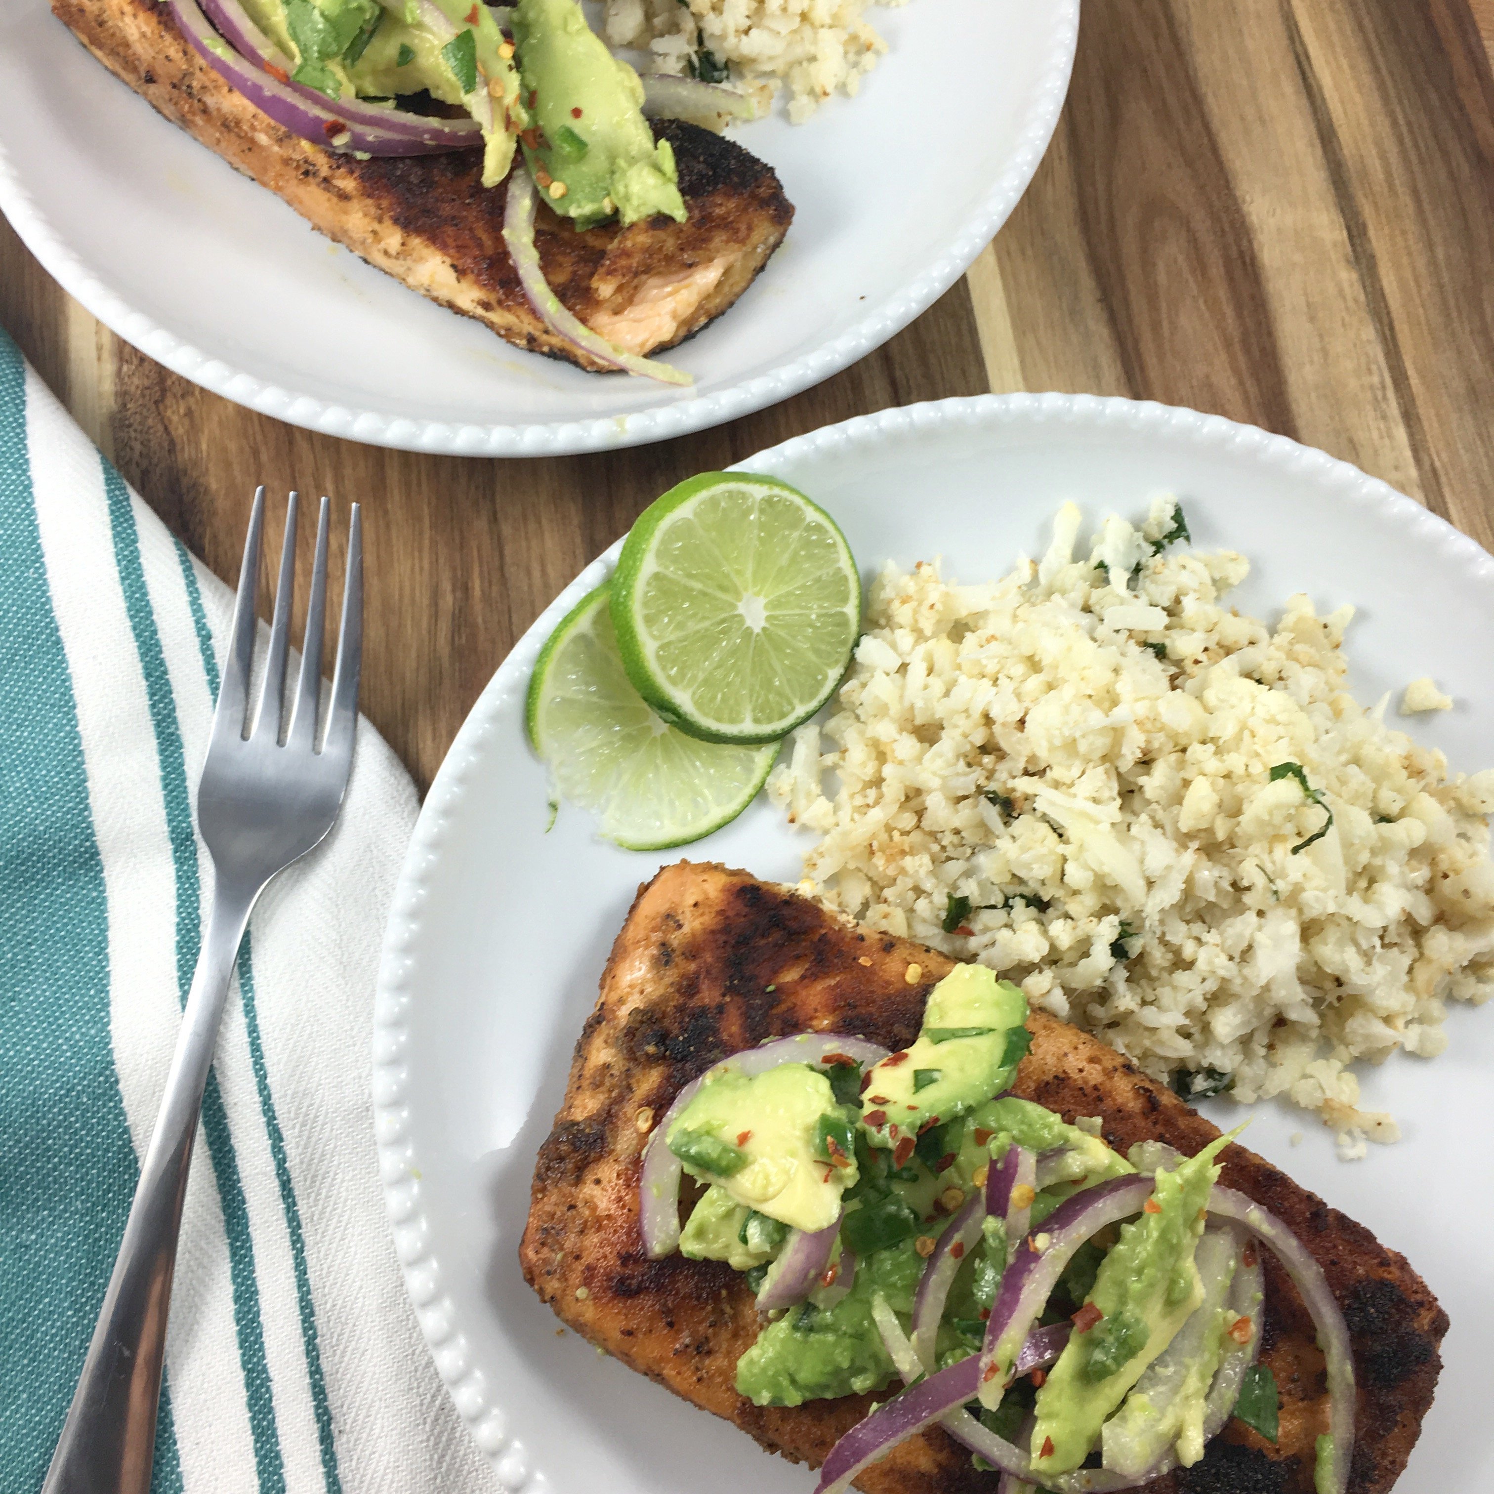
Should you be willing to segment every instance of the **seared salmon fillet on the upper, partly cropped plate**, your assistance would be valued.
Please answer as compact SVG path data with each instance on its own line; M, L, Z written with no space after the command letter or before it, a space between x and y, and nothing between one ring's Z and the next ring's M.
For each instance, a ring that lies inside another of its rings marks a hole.
M52 10L160 114L327 238L517 347L608 372L550 332L524 297L502 238L506 187L483 187L481 149L360 161L255 109L158 0L52 0ZM674 347L726 311L793 218L772 169L740 145L678 120L654 133L674 148L686 223L654 217L578 233L541 203L535 233L560 300L630 353Z

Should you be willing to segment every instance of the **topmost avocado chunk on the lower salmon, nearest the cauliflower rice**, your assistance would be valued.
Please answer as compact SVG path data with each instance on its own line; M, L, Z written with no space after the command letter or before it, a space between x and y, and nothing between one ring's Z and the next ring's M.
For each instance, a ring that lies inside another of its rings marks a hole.
M896 1146L1004 1089L1026 1052L1026 996L985 965L956 965L931 992L917 1041L884 1058L862 1091L862 1125Z

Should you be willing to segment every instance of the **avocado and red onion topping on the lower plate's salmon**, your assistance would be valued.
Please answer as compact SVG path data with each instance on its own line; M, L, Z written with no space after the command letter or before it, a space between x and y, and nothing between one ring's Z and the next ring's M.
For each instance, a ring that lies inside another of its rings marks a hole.
M901 1052L778 1038L677 1097L644 1156L644 1240L725 1261L757 1294L738 1392L799 1406L902 1382L835 1445L817 1494L934 1422L1013 1481L1131 1488L1195 1464L1231 1415L1274 1434L1264 1243L1318 1327L1331 1434L1316 1488L1343 1494L1348 1330L1312 1255L1219 1186L1233 1135L1192 1158L1159 1143L1120 1156L1098 1119L1007 1092L1025 1020L1016 986L959 965ZM704 1188L683 1231L681 1173Z

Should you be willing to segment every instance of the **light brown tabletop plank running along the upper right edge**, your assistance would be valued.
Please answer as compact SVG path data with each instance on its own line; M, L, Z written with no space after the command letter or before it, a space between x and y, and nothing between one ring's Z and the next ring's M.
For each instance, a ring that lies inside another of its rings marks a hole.
M1434 0L1292 0L1291 15L1321 94L1321 134L1342 154L1340 194L1363 224L1361 276L1379 287L1376 332L1422 496L1490 545L1494 164L1467 112L1470 60L1481 73L1472 99L1488 97L1472 13Z

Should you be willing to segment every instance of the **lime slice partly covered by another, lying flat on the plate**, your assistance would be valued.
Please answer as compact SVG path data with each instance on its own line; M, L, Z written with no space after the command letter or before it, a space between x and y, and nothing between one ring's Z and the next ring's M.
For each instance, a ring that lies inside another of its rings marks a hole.
M777 747L722 747L668 726L617 654L607 586L550 635L529 681L524 728L556 787L627 850L710 835L751 804Z

